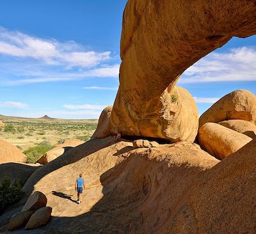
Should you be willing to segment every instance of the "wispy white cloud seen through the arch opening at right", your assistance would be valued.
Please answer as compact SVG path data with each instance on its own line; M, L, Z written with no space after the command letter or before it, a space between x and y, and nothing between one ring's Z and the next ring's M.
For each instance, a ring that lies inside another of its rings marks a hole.
M188 68L179 83L256 81L255 64L255 47L212 52Z

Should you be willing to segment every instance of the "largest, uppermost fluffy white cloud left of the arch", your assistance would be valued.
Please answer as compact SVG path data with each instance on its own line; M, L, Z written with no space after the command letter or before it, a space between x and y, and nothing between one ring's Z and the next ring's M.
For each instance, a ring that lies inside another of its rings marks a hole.
M111 52L86 51L74 41L61 43L57 40L36 38L19 31L8 31L0 27L0 54L14 57L30 57L46 64L93 67L111 59Z

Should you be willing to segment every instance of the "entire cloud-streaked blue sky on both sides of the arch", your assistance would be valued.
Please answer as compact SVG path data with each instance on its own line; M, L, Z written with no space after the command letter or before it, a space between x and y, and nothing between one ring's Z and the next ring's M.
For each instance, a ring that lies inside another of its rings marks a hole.
M118 88L124 0L8 0L0 5L0 114L98 118ZM179 85L199 113L236 89L256 93L256 36L232 38Z

